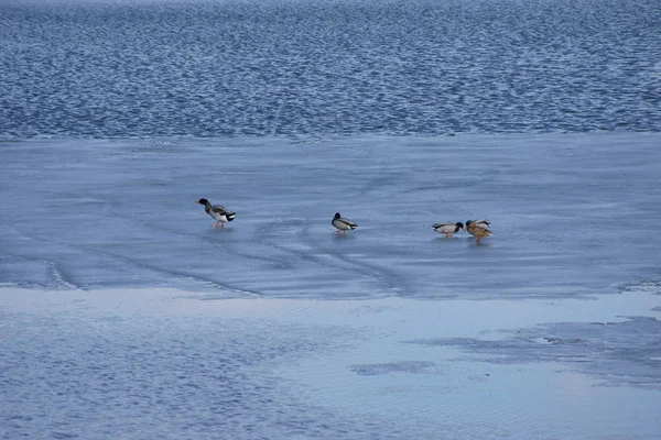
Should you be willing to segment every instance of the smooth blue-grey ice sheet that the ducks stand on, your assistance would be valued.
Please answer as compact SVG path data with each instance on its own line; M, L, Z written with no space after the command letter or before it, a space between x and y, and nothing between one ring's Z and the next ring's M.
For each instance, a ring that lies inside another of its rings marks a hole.
M0 144L0 283L555 297L658 279L661 135ZM238 212L225 229L194 200ZM339 211L359 228L333 232ZM438 221L489 218L481 245Z

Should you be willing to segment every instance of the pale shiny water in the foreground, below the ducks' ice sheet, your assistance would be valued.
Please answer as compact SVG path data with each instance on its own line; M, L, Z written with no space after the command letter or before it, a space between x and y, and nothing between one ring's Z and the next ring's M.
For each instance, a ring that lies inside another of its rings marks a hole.
M1 289L0 438L657 440L661 297L646 287L551 301Z

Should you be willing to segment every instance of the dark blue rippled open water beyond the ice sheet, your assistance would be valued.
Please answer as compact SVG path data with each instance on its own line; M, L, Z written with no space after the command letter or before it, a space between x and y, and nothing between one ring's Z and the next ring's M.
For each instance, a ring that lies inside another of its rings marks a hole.
M658 0L0 3L0 139L661 131Z

